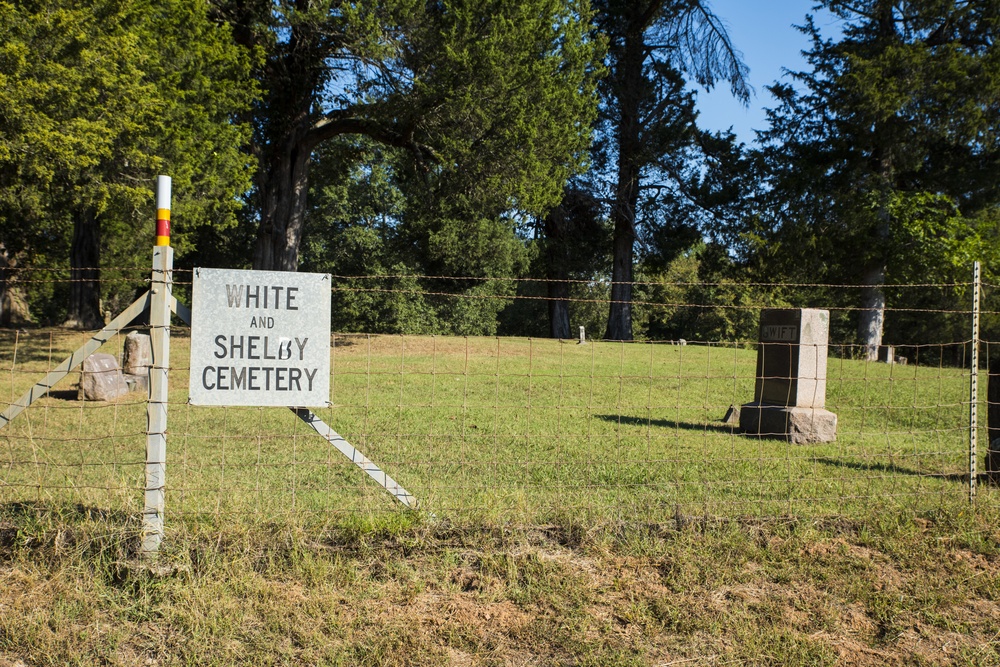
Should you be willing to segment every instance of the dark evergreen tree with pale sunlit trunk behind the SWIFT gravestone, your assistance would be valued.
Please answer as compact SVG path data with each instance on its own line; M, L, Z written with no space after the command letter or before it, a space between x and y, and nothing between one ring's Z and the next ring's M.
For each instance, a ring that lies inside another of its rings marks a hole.
M887 279L940 278L982 247L1000 197L1000 3L826 0L842 35L803 31L812 67L772 87L763 134L775 242L810 281L864 285L857 336L874 359Z

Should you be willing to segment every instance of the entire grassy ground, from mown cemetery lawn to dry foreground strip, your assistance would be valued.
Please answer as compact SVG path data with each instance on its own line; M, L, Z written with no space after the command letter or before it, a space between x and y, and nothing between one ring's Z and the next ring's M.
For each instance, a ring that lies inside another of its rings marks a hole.
M0 334L4 393L84 339ZM187 343L155 563L141 397L0 431L0 667L1000 664L967 371L831 358L837 442L789 445L720 421L750 348L337 336L317 414L413 512L286 409L187 405Z

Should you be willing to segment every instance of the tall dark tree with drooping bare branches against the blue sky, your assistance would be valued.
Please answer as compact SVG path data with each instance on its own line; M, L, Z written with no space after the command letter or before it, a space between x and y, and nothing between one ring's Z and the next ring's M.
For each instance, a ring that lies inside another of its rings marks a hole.
M708 2L598 0L594 8L595 23L608 41L595 159L597 175L609 181L606 199L614 228L605 337L630 340L643 190L669 193L697 152L694 101L684 76L706 87L728 81L744 101L750 88L741 55ZM647 198L648 208L656 207L655 200Z

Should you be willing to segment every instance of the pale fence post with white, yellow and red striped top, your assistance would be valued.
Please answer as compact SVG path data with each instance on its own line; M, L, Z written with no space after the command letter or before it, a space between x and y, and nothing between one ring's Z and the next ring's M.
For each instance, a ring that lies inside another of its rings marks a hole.
M170 370L170 301L173 291L174 250L170 247L169 176L156 177L156 246L149 302L150 343L146 403L146 492L142 511L144 556L154 556L163 541L163 490L167 469L167 374Z

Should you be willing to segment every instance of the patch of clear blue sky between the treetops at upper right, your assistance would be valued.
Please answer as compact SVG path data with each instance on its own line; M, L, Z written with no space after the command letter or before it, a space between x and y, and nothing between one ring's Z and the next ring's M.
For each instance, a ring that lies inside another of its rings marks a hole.
M765 86L781 78L782 68L805 69L801 51L809 46L809 40L793 26L803 24L806 14L812 13L824 35L838 31L834 19L814 12L814 5L814 0L710 0L712 10L725 22L733 45L743 52L756 96L749 107L744 107L728 86L711 92L698 89L700 127L725 130L731 126L739 141L753 142L753 130L766 125L764 109L774 106L774 98Z

